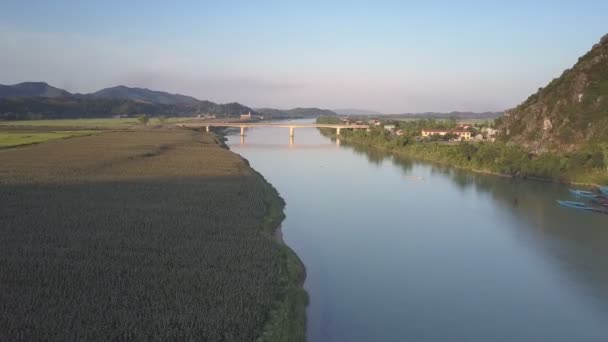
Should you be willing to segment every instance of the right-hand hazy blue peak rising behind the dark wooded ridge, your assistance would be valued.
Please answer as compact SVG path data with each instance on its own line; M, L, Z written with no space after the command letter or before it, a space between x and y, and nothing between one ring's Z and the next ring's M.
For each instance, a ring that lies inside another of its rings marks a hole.
M163 105L193 105L200 102L191 96L170 94L164 91L155 91L145 88L129 88L122 85L102 89L91 94L91 96L107 99L128 99L138 102L148 102Z

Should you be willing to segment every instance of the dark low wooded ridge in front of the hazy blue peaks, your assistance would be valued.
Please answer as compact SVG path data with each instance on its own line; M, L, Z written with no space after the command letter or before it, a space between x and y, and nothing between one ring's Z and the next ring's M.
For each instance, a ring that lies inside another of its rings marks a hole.
M152 116L193 116L214 114L234 117L252 111L239 103L217 104L200 101L196 104L167 105L134 101L130 99L71 97L20 97L0 99L0 120L33 120L60 118L102 118L136 116L142 113ZM252 111L252 113L255 113Z

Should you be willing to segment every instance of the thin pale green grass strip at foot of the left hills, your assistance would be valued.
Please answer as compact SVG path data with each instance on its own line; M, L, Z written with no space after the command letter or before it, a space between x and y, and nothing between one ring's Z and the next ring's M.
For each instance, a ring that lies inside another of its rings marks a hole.
M166 123L176 123L192 118L167 118ZM161 124L158 118L151 118L148 125ZM120 128L139 125L137 118L99 118L99 119L55 119L55 120L19 120L0 121L1 126L12 127L95 127Z

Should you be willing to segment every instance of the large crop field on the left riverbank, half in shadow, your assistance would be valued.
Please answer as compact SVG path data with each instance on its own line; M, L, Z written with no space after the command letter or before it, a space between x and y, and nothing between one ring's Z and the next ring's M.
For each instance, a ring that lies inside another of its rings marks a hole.
M303 341L276 191L214 135L0 151L0 340Z

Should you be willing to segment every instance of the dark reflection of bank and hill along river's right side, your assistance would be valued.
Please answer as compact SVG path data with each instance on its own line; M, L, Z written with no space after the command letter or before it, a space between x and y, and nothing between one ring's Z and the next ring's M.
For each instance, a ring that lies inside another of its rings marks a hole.
M447 177L462 191L489 194L522 221L512 227L523 242L532 244L564 281L575 284L593 305L608 312L608 215L560 207L557 199L572 199L567 186L478 174L359 144L343 142L342 146L376 165L390 161L407 174L416 165L424 165L430 167L431 176Z

